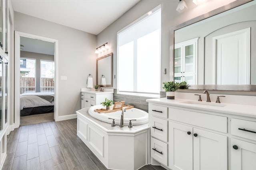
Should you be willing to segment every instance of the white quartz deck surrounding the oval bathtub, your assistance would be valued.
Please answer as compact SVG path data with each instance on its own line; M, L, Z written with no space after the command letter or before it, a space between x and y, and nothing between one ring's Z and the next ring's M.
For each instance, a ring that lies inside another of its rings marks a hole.
M133 125L132 128L129 128L128 126L119 127L119 125L116 125L115 127L111 126L111 123L106 123L103 121L100 121L98 119L95 119L94 117L90 116L88 113L89 108L84 108L76 111L76 113L82 117L84 117L86 120L90 121L94 125L100 127L107 133L137 133L142 130L149 129L148 123L142 124L142 125ZM100 114L100 113L99 113ZM103 113L102 113L103 114Z

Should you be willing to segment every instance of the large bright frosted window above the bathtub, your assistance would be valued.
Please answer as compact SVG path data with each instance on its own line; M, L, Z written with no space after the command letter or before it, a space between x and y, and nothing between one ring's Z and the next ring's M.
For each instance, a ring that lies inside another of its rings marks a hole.
M161 6L117 33L117 93L159 97Z

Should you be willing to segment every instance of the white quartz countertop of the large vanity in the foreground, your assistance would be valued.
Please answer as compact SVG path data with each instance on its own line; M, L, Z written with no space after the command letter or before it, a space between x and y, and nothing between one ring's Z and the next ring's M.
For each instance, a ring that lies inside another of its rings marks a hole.
M214 111L218 113L227 113L232 115L240 115L240 116L247 116L247 117L254 117L256 118L256 106L252 105L242 105L242 104L230 104L230 103L221 103L221 106L210 106L202 104L190 104L184 102L190 102L193 100L185 100L185 99L166 99L166 98L156 98L156 99L147 99L146 102L155 103L155 104L164 104L169 106L179 106L185 108L193 108L193 109L200 109L204 111ZM196 100L194 100L196 101ZM215 102L212 102L215 104ZM218 105L218 104L216 104Z

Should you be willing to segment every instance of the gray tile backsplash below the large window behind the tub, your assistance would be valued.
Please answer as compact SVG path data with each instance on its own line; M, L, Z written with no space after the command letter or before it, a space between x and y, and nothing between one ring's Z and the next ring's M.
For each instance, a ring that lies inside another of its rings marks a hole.
M165 97L165 92L160 92L160 97ZM125 105L131 105L135 108L142 109L148 112L148 102L147 99L152 99L152 97L144 97L144 96L133 96L127 94L117 94L116 89L114 89L114 102L125 101Z

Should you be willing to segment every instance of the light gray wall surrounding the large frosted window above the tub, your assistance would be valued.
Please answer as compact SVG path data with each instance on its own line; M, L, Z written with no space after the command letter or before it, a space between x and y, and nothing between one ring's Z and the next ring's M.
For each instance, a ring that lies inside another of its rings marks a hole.
M116 75L116 33L126 25L132 23L140 16L146 14L159 4L162 10L162 32L161 32L161 82L169 81L170 74L163 74L164 68L170 70L170 45L173 45L173 40L170 39L170 29L175 25L179 25L187 20L210 12L216 8L227 5L234 0L207 0L205 3L196 6L192 0L186 0L188 10L179 13L176 11L178 0L141 0L123 16L121 16L114 23L109 25L100 34L97 35L97 44L102 45L109 43L113 52L113 74ZM98 57L105 55L101 53ZM173 74L173 73L171 73ZM113 80L114 88L116 88L116 79ZM161 91L162 83L161 83Z

